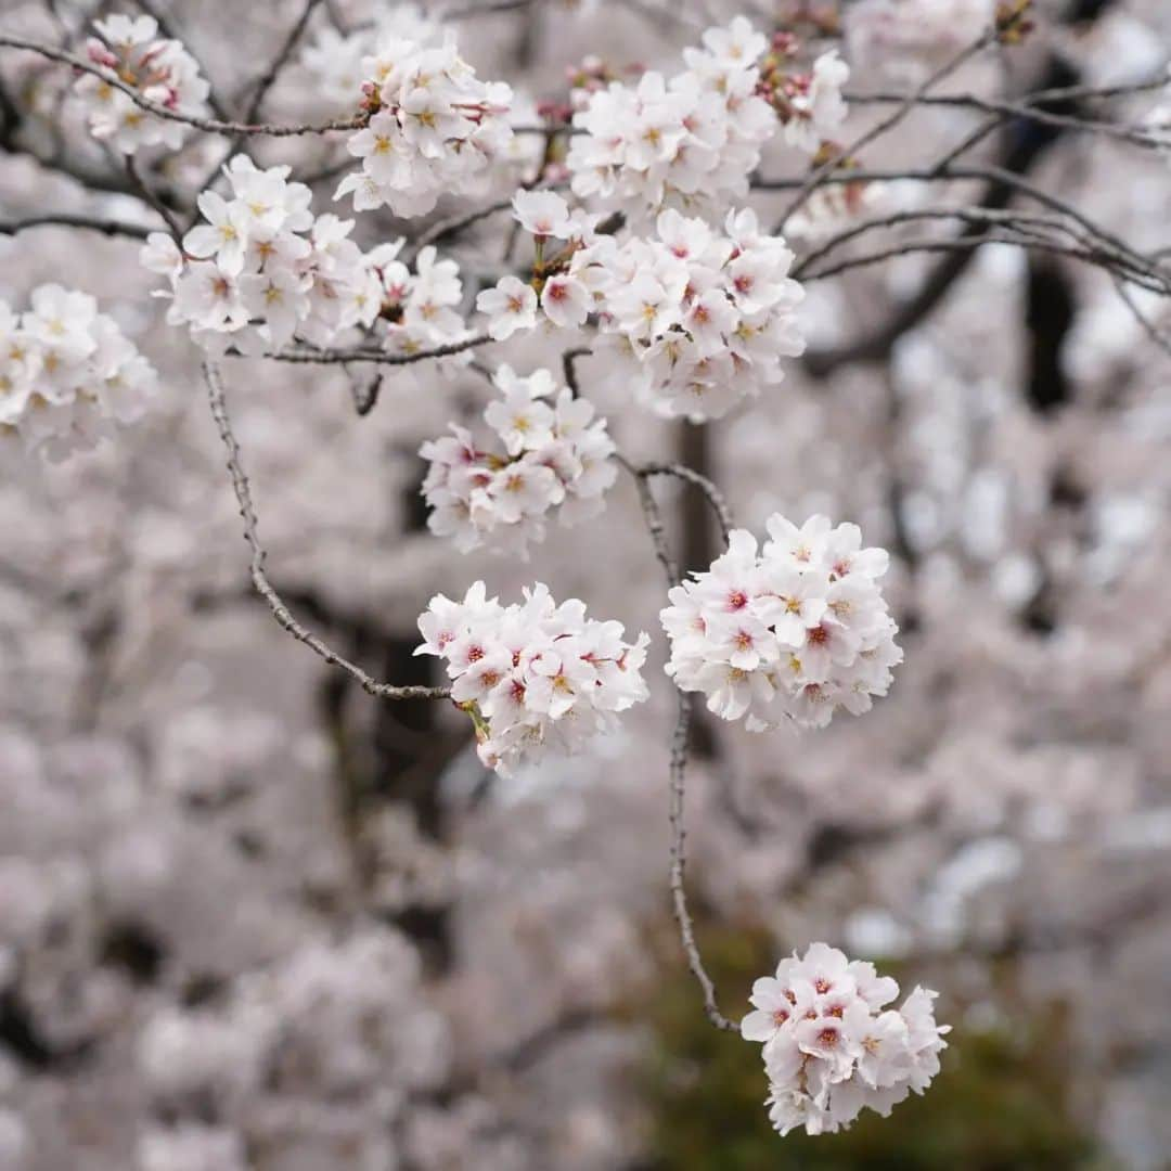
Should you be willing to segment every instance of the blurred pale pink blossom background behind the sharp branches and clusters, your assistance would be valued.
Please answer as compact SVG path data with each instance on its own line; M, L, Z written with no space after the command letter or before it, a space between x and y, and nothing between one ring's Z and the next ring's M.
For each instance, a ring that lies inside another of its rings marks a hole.
M78 43L95 13L131 7L0 0L0 27ZM159 7L226 95L301 8ZM532 119L566 101L586 54L671 73L708 23L744 11L775 27L794 7L543 0L457 27ZM890 7L806 6L838 22L848 91L913 88L993 6L919 4L936 22L904 20L902 40ZM321 5L304 43L389 9ZM1036 19L951 84L1020 93L1059 62L1067 84L1125 85L1171 56L1159 0L1053 0ZM0 78L36 111L0 135L0 219L142 218L63 100L68 70L9 54ZM334 117L331 94L297 55L266 112ZM1112 114L1138 123L1159 97ZM855 109L848 138L876 116ZM917 110L867 162L931 165L978 121ZM196 183L221 149L197 137L156 179ZM258 157L302 173L336 150L274 141ZM800 174L771 151L763 176ZM1028 174L1143 253L1171 246L1164 152L1048 128ZM319 211L335 183L315 186ZM515 183L501 174L495 197ZM972 201L979 185L960 190ZM749 203L768 224L786 198ZM944 197L891 180L878 198ZM355 239L417 230L384 208ZM799 256L819 230L790 226ZM444 249L466 310L507 232L488 219ZM1131 290L1141 320L1110 274L988 244L864 361L850 345L915 304L938 258L810 283L814 359L705 426L653 418L580 363L631 459L700 468L758 534L773 512L824 512L892 552L906 658L889 698L822 732L705 718L693 738L689 884L728 1015L780 956L824 938L940 989L954 1026L927 1097L780 1139L759 1056L705 1021L670 915L674 696L630 479L528 562L458 554L426 530L417 451L478 419L474 372L391 372L359 419L341 368L226 367L269 571L377 677L440 682L412 656L417 616L478 577L502 597L541 580L652 634L651 699L621 735L488 773L450 705L372 700L251 593L200 355L164 324L137 252L66 227L0 237L0 296L93 294L162 382L116 441L0 471L0 1171L1171 1167L1165 302ZM497 350L518 369L557 362L537 334ZM703 499L656 491L684 563L706 567L719 537Z

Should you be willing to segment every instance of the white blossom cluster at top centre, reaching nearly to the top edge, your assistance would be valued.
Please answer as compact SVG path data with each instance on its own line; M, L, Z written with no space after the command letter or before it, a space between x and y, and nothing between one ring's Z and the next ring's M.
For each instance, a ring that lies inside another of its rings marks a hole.
M684 50L687 69L670 80L648 71L637 85L614 81L583 90L566 163L581 198L619 201L632 215L664 207L726 206L747 193L748 176L778 121L756 94L767 40L744 16L704 33Z

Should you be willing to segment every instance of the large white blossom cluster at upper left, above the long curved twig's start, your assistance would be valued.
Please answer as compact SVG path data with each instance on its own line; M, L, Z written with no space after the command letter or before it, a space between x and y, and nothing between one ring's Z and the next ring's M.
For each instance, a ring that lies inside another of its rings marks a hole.
M326 345L342 329L370 326L381 294L349 239L354 221L315 217L311 192L288 182L288 166L260 170L237 155L224 173L232 198L200 194L205 222L184 237L182 251L163 233L143 248L143 265L171 282L167 322L190 327L208 349L231 341L245 352L294 335Z

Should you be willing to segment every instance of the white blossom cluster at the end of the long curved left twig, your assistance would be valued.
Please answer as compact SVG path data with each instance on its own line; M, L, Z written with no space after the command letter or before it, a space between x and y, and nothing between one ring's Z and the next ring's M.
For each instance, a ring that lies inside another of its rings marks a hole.
M471 715L480 760L501 775L547 751L571 754L617 713L646 699L649 638L623 642L621 622L586 617L586 603L557 605L548 587L504 607L475 582L461 602L437 594L419 617L416 655L447 663L452 699Z

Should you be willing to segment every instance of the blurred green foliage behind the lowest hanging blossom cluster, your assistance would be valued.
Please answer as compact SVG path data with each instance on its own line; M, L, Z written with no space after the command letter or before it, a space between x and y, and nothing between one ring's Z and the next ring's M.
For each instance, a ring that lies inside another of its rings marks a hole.
M775 963L761 937L708 934L704 954L733 994ZM891 965L885 971L900 977ZM902 980L900 980L902 982ZM911 981L913 984L913 980ZM909 991L909 988L904 989ZM1011 1026L957 1027L924 1097L890 1118L864 1111L844 1134L781 1138L763 1105L759 1047L713 1029L682 966L646 1006L657 1043L643 1076L653 1171L1053 1171L1105 1169L1071 1103L1068 1022L1060 1007ZM744 1011L747 1011L745 1005ZM945 1007L946 1013L946 1007ZM958 1013L949 1014L956 1023Z

